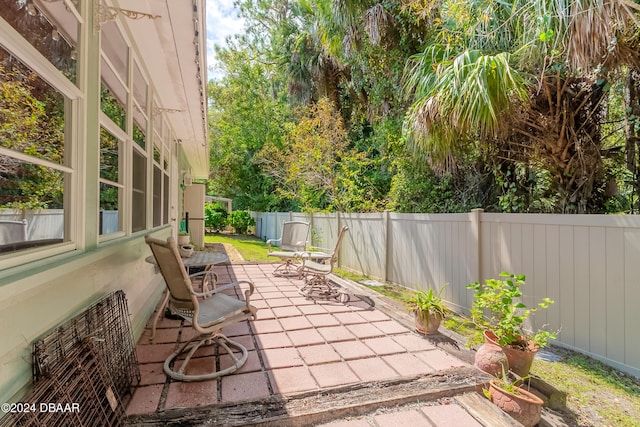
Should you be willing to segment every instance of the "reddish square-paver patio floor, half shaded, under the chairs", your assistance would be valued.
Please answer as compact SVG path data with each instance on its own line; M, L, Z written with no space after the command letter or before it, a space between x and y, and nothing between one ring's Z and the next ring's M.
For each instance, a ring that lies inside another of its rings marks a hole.
M274 396L320 391L361 382L398 379L468 366L436 348L367 299L348 303L307 300L298 279L274 277L273 265L217 266L220 283L251 280L251 304L258 318L223 330L249 350L245 365L217 380L185 383L170 380L164 359L179 340L192 334L180 320L161 319L156 338L147 329L137 346L142 380L127 408L128 415L172 408L246 402ZM228 363L211 351L192 361L192 368ZM226 365L228 366L228 365ZM342 419L331 426L480 426L454 401L406 408L393 413Z

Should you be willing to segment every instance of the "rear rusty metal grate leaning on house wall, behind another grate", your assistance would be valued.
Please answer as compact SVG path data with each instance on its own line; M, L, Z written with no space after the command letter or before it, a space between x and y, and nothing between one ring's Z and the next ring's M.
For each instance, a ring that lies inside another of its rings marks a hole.
M33 382L52 378L75 349L92 338L113 382L113 392L125 404L132 386L140 382L136 347L129 325L129 310L123 291L112 292L68 320L33 346Z

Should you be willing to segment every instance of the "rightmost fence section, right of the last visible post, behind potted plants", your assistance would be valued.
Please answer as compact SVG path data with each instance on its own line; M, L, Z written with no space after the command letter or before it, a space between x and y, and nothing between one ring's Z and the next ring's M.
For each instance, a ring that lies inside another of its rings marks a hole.
M555 300L534 323L558 343L640 374L640 217L482 214L482 272L525 274L523 300Z

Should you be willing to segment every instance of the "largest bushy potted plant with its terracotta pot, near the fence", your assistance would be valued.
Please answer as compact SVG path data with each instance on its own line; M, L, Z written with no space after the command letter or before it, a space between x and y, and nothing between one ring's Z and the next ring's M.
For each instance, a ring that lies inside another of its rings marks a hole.
M525 377L529 374L538 350L546 347L549 340L556 338L554 333L543 329L528 332L524 328L525 321L537 310L548 308L553 301L543 298L537 307L527 308L520 300L520 287L525 284L525 276L505 272L500 273L500 276L504 280L489 279L482 285L475 282L467 286L475 292L470 311L472 321L478 326L478 333L472 343L484 339L485 343L497 344L507 356L509 369ZM478 353L481 353L480 350ZM476 362L479 362L477 358ZM487 372L482 367L479 368Z

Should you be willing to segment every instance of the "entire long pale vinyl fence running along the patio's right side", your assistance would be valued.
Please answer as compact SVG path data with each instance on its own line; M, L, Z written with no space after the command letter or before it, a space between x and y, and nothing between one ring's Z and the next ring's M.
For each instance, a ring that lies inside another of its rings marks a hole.
M555 301L530 328L560 330L556 343L640 377L640 216L253 213L256 235L280 237L283 221L312 225L332 248L349 226L340 266L407 288L439 289L468 313L474 281L524 274L523 302Z

